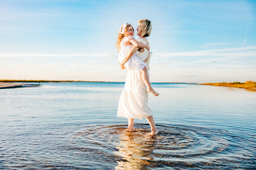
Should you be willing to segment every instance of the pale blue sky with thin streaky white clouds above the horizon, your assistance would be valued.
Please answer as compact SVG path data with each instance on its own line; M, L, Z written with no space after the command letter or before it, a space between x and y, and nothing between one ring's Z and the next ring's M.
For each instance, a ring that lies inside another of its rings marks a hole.
M151 82L256 81L255 1L171 0L2 0L0 79L125 81L117 32L141 18Z

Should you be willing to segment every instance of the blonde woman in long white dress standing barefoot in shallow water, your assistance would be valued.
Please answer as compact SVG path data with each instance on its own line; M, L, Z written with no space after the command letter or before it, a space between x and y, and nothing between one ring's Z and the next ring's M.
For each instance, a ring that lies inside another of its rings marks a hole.
M148 19L139 20L137 31L137 35L140 37L139 39L137 39L137 41L147 44L147 37L151 33L151 22ZM132 46L130 52L127 53L124 60L120 63L122 69L125 68L124 63L128 61L134 53L136 53L136 56L140 60L147 63L148 67L151 53L144 48ZM137 70L128 70L124 90L119 100L117 116L128 118L128 128L124 131L133 130L134 118L142 119L143 117L146 117L151 127L151 132L148 133L148 135L158 134L152 110L150 110L150 108L148 107L147 87L143 82L141 72Z

